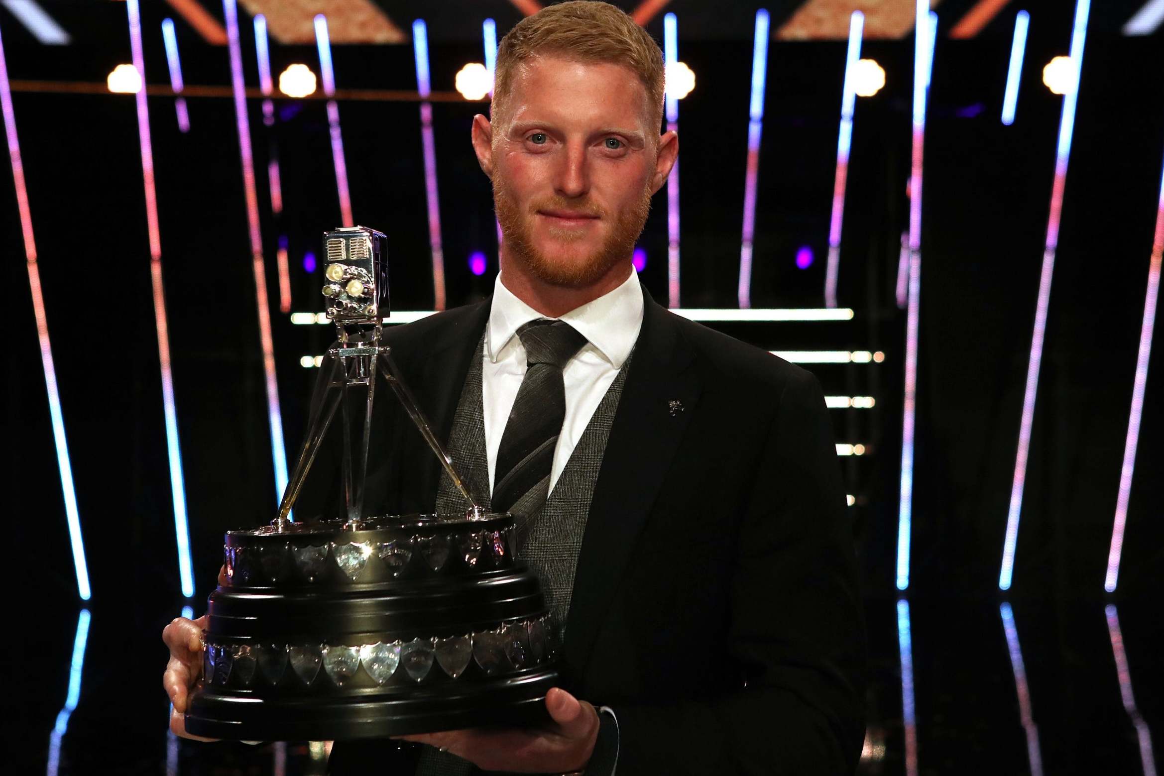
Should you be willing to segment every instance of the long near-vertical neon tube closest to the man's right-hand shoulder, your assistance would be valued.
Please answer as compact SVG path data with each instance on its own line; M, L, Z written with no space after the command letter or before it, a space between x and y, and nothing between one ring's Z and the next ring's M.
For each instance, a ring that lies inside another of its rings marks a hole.
M914 34L913 166L909 177L909 293L906 305L906 392L901 425L901 490L897 503L897 590L909 586L909 541L914 508L914 420L917 404L917 328L922 291L922 162L925 104L937 42L937 16L917 0Z

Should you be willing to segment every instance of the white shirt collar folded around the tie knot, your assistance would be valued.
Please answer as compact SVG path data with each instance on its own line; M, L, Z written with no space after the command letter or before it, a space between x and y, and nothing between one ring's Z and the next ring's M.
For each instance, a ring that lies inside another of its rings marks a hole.
M518 299L502 283L501 275L494 283L494 301L489 311L485 333L485 355L497 363L502 350L510 343L517 330L530 321L546 318L530 305ZM613 291L575 307L560 319L577 329L579 334L610 362L622 369L630 358L634 342L643 328L643 287L638 273L630 277Z

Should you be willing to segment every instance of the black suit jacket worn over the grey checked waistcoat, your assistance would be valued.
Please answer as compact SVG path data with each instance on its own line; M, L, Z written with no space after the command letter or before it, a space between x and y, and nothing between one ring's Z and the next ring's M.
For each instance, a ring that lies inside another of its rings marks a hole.
M864 626L819 384L644 296L579 557L563 685L613 709L619 776L852 773ZM489 309L385 332L441 439ZM367 504L432 511L435 457L395 399L379 405L391 441L369 464ZM297 512L322 511L311 498ZM369 760L378 768L364 774L398 773L388 748L339 745L333 770Z

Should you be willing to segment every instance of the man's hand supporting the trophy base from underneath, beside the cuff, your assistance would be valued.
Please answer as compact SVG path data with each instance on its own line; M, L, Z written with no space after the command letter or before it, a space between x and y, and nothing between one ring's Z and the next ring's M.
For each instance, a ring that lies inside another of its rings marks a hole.
M598 712L559 688L546 693L546 710L553 722L541 728L481 728L400 738L440 747L482 770L560 774L585 768L598 739Z

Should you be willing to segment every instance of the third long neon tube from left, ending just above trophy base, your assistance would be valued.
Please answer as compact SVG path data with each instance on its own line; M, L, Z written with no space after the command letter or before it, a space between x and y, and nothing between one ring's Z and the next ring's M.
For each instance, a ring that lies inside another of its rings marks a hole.
M255 192L255 158L250 148L250 122L247 118L247 93L242 81L242 47L239 42L236 0L222 0L230 49L230 86L234 92L234 118L239 134L239 157L242 163L242 188L247 198L247 234L250 237L250 269L255 276L255 306L258 309L258 340L263 349L263 375L267 386L267 421L271 433L271 456L275 463L275 499L283 498L288 486L288 457L283 444L283 414L279 411L279 385L275 375L275 341L271 337L271 312L267 298L267 269L263 237L258 228L258 195ZM141 92L140 92L141 93Z

